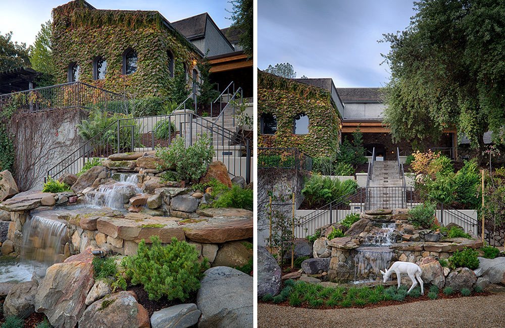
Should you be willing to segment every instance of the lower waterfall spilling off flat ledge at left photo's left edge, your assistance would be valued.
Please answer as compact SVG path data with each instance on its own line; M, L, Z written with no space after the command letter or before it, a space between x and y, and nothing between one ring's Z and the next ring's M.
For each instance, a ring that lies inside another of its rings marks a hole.
M67 234L65 223L32 215L23 225L22 258L47 265L62 261Z

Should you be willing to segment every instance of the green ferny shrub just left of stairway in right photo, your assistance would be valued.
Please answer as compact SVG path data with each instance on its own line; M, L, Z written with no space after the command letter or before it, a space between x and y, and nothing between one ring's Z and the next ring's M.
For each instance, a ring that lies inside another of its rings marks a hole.
M355 180L341 182L338 179L313 175L305 182L301 193L305 196L307 205L315 208L341 199L344 195L354 193L356 190L358 190L358 183Z

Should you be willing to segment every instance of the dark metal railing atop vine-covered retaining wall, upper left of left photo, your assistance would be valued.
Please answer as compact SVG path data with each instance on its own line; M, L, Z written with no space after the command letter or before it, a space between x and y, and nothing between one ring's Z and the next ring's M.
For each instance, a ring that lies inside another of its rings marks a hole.
M127 98L82 82L70 82L0 95L0 112L33 113L65 108L83 108L128 114Z

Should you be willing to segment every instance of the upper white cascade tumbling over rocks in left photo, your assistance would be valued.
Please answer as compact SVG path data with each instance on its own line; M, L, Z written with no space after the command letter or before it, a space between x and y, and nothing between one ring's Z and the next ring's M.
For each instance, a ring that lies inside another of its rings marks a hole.
M101 185L97 191L87 193L86 202L95 208L124 210L124 204L135 194L142 193L142 189L137 186L136 174L119 174L118 180L113 184Z

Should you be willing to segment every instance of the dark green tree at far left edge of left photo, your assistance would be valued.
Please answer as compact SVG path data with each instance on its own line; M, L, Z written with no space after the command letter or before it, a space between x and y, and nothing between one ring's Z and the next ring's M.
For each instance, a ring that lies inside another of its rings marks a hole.
M26 44L14 42L12 32L0 33L0 72L21 66L30 66Z

